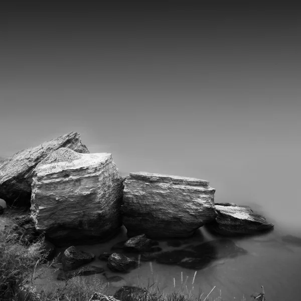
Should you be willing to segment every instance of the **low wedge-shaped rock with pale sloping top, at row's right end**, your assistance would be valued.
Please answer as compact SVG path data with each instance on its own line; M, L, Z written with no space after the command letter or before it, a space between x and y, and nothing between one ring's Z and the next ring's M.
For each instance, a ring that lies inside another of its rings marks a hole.
M215 206L218 216L206 227L221 235L258 234L274 227L249 207Z

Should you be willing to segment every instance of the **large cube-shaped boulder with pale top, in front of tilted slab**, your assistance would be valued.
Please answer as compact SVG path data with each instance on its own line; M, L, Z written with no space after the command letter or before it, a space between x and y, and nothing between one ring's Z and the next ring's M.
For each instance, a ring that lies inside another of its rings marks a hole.
M122 178L111 154L60 148L34 171L32 218L58 246L100 243L122 225Z

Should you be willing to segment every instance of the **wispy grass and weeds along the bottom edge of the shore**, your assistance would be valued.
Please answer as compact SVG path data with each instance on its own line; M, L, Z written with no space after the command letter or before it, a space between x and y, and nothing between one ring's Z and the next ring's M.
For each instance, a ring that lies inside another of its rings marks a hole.
M46 277L49 269L56 263L56 259L46 263L47 254L43 249L43 238L27 246L24 241L12 230L0 229L0 300L1 301L89 301L95 293L105 294L106 283L93 277L89 282L83 277L74 277L55 284L55 287L36 285L36 280ZM152 262L149 263L153 275ZM195 295L194 284L197 271L192 279L192 289L188 290L187 278L181 273L181 288L172 293L164 293L153 278L153 284L141 288L139 291L124 292L119 296L121 301L223 301L221 293L212 300L210 294L216 287L205 294ZM51 283L51 279L48 279ZM176 280L174 278L174 288ZM209 299L210 298L210 299ZM253 295L256 301L265 301L264 289ZM245 301L243 296L242 301Z

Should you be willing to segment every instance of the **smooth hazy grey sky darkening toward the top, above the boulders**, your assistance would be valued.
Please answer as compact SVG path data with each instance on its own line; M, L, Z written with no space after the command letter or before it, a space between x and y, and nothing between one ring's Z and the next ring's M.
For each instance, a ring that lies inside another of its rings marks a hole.
M0 156L69 131L124 175L209 180L297 219L301 20L259 2L15 6L0 13Z

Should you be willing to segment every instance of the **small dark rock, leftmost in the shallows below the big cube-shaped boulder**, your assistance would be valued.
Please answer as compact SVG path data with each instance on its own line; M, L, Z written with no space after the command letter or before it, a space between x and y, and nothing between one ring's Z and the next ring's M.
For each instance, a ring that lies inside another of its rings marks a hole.
M89 263L94 259L95 255L79 251L76 247L71 246L67 248L62 256L62 264L64 271L70 271L78 268L79 266Z

